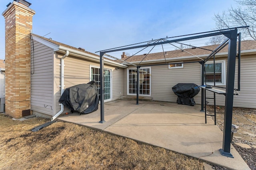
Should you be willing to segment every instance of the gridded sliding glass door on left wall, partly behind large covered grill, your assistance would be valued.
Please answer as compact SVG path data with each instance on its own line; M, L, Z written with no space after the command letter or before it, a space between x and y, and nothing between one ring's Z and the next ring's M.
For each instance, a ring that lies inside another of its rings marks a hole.
M90 80L96 81L100 100L100 68L90 66ZM104 69L104 100L111 100L111 70Z

